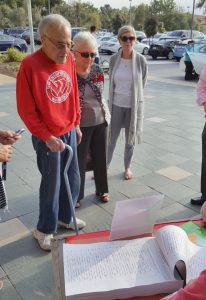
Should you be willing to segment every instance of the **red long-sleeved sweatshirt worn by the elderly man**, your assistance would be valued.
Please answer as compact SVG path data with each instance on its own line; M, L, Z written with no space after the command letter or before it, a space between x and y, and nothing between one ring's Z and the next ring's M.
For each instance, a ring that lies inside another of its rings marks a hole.
M16 84L17 109L29 131L47 141L80 123L75 64L71 53L56 64L40 49L21 63Z

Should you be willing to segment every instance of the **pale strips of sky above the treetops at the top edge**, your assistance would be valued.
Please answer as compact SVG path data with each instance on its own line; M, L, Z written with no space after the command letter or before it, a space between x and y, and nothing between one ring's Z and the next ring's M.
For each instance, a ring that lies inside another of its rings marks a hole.
M192 13L193 1L194 0L176 0L175 2L178 6L183 7L186 12L189 11ZM104 6L105 4L109 4L112 8L122 8L123 6L129 8L130 6L130 0L82 0L82 2L90 2L97 8ZM131 5L137 6L141 3L149 4L150 0L131 0ZM202 11L195 9L195 14L202 14Z

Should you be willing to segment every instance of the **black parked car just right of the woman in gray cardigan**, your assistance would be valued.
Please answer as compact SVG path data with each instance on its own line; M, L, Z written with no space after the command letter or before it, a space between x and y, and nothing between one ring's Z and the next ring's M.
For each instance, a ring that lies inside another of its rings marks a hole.
M148 55L153 59L157 57L165 57L169 60L174 58L173 49L178 43L177 40L163 39L155 44L150 45Z

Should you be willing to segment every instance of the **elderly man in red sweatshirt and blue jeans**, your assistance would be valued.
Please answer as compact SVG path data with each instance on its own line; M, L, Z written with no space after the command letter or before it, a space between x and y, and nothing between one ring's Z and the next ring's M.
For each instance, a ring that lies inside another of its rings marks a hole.
M58 224L74 229L63 172L68 144L73 149L68 178L75 206L80 187L76 154L80 106L70 23L60 15L48 15L39 24L39 34L42 47L22 61L17 76L17 108L32 133L41 173L39 220L33 236L49 251ZM77 225L81 229L86 224L77 219Z

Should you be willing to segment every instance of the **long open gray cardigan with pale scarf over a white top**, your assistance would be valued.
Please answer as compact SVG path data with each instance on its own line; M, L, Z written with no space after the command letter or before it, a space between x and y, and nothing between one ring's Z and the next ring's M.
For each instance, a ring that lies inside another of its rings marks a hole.
M112 115L112 104L114 94L114 74L121 60L122 50L114 54L110 59L109 64L109 109ZM129 139L128 143L134 145L136 137L138 144L142 142L142 131L143 131L143 118L144 118L144 95L143 89L147 81L147 61L145 57L135 50L132 53L132 72L133 72L133 84L132 84L132 107L131 107L131 121L129 128ZM111 126L111 123L110 123ZM111 128L110 128L111 132ZM110 134L109 134L110 138Z

